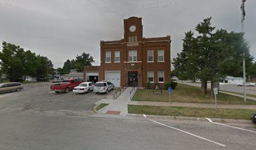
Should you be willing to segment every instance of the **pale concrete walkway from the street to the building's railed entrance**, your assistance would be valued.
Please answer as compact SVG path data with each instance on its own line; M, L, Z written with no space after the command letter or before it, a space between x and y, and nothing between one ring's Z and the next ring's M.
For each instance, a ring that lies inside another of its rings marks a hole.
M102 99L95 104L106 103L109 104L104 108L100 109L98 112L100 114L119 114L126 116L128 114L127 105L130 102L130 91L132 87L128 87L125 91L115 100L113 99Z

